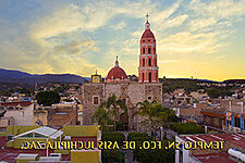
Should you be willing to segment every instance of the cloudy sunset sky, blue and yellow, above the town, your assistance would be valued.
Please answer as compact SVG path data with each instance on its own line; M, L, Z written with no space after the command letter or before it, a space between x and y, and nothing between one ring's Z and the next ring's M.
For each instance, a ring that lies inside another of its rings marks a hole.
M245 0L0 0L0 68L138 75L147 13L159 77L245 78Z

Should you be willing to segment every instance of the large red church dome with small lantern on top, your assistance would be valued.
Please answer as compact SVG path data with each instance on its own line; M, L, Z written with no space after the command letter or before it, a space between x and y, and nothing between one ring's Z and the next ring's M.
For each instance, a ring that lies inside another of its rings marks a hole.
M123 83L128 82L127 75L123 68L119 66L119 61L115 61L115 66L112 67L106 78L106 83Z

